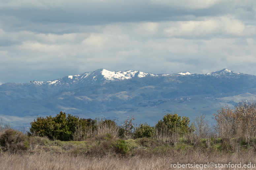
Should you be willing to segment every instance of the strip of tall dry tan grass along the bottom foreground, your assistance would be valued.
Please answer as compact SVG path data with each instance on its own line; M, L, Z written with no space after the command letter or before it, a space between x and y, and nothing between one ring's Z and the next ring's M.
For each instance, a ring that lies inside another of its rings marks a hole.
M33 170L165 170L171 168L171 164L202 164L207 162L228 164L255 163L256 157L252 150L240 154L204 153L194 150L177 152L170 150L166 155L134 156L125 158L115 157L87 157L73 156L68 154L23 154L23 155L0 155L0 169L33 169ZM182 168L199 169L199 168ZM213 169L213 168L204 168ZM218 168L214 168L218 169ZM223 168L220 168L223 169ZM232 168L238 169L238 168ZM240 168L243 169L243 168ZM247 169L247 168L246 168ZM250 168L248 168L250 169Z

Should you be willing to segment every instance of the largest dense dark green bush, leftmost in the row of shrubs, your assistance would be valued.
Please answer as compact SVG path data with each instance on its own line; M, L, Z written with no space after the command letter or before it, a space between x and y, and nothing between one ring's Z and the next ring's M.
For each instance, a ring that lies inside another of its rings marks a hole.
M84 131L91 128L93 131L95 122L92 119L79 119L78 116L70 114L66 116L66 113L61 111L56 117L37 117L37 120L30 123L29 134L41 137L47 136L51 140L67 141L73 139L76 127L81 127Z

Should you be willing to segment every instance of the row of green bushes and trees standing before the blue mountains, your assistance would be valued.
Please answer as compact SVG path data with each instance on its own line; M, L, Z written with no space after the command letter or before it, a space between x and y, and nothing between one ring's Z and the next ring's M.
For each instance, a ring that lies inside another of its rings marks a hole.
M167 113L164 115L163 120L159 120L153 127L147 123L140 124L136 127L133 120L135 118L131 115L130 118L118 126L114 120L84 119L71 114L66 115L65 112L61 111L55 117L37 117L36 120L30 123L31 128L28 134L41 137L47 136L51 140L68 141L89 138L94 131L98 131L103 126L107 129L116 130L118 136L121 138L153 137L157 133L164 133L161 131L163 128L172 131L171 133L178 131L181 135L187 134L194 129L194 125L190 124L188 117L178 116L177 113ZM79 139L77 138L78 135L80 135Z

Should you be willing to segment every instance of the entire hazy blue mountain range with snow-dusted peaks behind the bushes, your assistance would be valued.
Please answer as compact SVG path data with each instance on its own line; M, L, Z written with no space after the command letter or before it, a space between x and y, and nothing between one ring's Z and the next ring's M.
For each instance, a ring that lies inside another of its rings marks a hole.
M0 85L0 118L15 126L60 111L84 118L115 118L133 114L153 125L168 112L194 119L212 117L220 105L233 107L255 98L256 76L228 69L207 73L151 74L98 69L57 80Z

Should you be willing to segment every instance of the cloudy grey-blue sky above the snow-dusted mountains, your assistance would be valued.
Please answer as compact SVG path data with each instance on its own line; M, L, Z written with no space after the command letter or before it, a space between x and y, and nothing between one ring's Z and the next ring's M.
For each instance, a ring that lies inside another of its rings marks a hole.
M99 68L256 75L256 1L0 0L0 84Z

